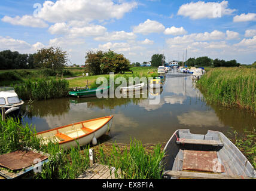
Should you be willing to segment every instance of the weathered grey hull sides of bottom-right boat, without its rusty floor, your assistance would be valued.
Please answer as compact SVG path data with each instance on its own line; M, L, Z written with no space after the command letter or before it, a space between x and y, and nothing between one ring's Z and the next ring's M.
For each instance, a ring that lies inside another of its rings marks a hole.
M178 144L177 140L212 140L221 141L223 145L213 146L206 145L205 143L200 144ZM256 171L249 163L248 159L240 152L239 149L227 138L225 135L218 131L208 131L207 134L192 134L190 130L177 130L172 135L170 140L164 147L166 155L161 161L164 164L164 172L167 171L179 171L182 172L184 165L184 153L185 150L190 151L203 151L203 152L216 152L217 161L223 165L224 171L220 172L221 175L237 176L237 177L256 177ZM193 159L193 158L192 158ZM211 165L211 164L208 164ZM176 177L167 177L176 178Z

